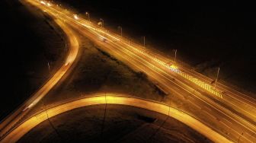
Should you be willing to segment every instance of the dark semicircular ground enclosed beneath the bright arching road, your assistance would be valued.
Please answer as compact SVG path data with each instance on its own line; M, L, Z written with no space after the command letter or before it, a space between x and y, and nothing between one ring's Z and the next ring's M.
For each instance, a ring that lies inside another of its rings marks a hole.
M178 120L149 110L107 104L105 118L104 111L103 104L62 113L18 142L210 142Z

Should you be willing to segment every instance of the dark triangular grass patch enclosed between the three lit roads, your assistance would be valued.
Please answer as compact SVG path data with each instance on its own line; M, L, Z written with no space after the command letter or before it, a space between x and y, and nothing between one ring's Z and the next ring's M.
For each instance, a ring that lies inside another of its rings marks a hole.
M27 116L63 100L91 96L94 93L127 94L157 101L167 99L167 95L149 81L144 73L133 71L123 62L101 51L86 37L82 37L80 42L75 68Z

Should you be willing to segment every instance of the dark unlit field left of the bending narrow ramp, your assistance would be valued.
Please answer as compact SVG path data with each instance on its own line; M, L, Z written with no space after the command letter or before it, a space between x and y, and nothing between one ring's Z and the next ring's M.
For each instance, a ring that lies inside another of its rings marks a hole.
M50 77L65 57L62 31L50 18L18 1L1 1L0 120Z

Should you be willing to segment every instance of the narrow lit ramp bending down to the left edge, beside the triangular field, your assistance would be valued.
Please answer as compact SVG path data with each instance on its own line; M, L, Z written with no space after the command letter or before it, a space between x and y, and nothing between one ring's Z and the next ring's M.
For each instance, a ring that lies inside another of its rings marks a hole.
M15 110L13 113L11 113L10 116L7 116L0 124L0 137L2 135L5 135L8 130L10 130L17 122L22 119L22 117L30 111L31 108L33 108L34 105L36 105L57 83L58 81L63 77L63 75L66 74L67 71L71 68L73 62L75 61L75 58L78 55L78 48L79 43L78 39L71 30L70 27L67 27L66 24L63 24L62 21L55 19L54 20L56 24L59 25L59 27L62 28L62 30L67 35L67 41L69 42L70 49L69 54L66 58L66 61L63 63L63 65L59 68L58 71L51 77L48 81L46 81L45 84L43 84L42 87L28 100L26 100L21 106L18 107L17 110Z

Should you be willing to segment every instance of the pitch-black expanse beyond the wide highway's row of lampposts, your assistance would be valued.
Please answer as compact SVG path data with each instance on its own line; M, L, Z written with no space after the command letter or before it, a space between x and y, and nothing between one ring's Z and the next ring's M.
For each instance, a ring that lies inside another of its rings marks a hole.
M59 0L79 14L104 18L104 25L123 27L126 36L157 46L191 65L221 67L220 78L256 89L256 18L247 2ZM210 63L210 64L209 64Z

